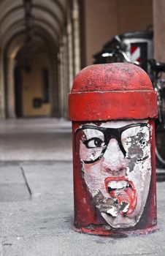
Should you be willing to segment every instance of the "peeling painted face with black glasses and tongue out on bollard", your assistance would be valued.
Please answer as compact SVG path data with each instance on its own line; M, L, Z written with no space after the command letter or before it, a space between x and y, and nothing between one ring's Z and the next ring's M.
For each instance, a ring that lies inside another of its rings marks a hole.
M75 132L82 177L111 227L133 227L142 216L150 188L150 130L147 121L107 121Z

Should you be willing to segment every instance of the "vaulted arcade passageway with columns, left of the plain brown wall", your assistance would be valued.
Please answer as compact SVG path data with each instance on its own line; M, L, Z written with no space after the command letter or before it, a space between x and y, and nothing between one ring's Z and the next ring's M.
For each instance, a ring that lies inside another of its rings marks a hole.
M77 0L1 0L0 118L67 117L80 69Z

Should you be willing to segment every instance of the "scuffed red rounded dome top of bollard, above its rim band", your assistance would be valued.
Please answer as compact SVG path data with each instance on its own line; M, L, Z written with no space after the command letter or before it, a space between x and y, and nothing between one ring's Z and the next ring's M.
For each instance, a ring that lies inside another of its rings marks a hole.
M74 78L72 92L152 90L147 73L128 63L96 64L85 67Z

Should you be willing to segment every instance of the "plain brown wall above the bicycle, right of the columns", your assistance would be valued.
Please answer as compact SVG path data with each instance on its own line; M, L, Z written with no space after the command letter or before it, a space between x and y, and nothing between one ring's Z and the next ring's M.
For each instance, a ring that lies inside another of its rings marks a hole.
M80 11L84 66L93 63L93 54L115 34L144 30L153 23L152 0L84 0Z

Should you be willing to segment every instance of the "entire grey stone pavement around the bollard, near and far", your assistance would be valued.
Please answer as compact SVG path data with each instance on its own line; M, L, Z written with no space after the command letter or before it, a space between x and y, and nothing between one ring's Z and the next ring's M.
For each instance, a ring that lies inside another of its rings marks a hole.
M165 182L157 183L155 233L107 238L74 232L70 131L69 122L54 119L1 122L0 256L164 256Z

